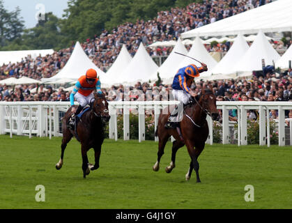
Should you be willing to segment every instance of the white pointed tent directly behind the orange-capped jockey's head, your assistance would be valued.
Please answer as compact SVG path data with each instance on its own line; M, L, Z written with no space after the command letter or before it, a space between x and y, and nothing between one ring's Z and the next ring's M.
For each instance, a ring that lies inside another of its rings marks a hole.
M85 54L79 42L75 44L74 50L70 56L70 59L67 61L63 69L57 73L55 76L46 79L47 81L52 81L56 79L79 79L82 75L85 75L86 70L93 68L98 72L100 77L100 82L105 77L105 72L100 70L95 64L89 59Z

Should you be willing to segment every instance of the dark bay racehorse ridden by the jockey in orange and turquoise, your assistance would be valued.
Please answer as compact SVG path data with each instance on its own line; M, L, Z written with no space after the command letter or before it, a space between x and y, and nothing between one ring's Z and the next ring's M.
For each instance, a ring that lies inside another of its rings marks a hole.
M66 112L62 121L63 139L61 144L61 158L56 164L56 169L61 169L63 165L63 156L68 142L74 136L81 143L82 153L82 170L83 177L99 167L100 152L104 137L104 126L109 121L108 103L105 95L94 93L94 101L91 102L91 107L87 112L84 112L82 118L77 123L76 132L67 127L68 120L72 116L71 107ZM76 134L77 133L77 134ZM94 149L95 164L90 164L87 157L87 151L90 148Z

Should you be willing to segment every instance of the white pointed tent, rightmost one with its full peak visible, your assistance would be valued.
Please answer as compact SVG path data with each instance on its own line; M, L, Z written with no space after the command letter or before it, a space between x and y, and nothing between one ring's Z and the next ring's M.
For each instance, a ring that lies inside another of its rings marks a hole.
M267 38L263 35L262 31L259 31L256 36L256 40L249 47L245 55L236 63L233 67L236 71L249 71L262 70L261 60L265 60L265 64L272 65L273 61L277 61L280 58L277 51L270 45Z

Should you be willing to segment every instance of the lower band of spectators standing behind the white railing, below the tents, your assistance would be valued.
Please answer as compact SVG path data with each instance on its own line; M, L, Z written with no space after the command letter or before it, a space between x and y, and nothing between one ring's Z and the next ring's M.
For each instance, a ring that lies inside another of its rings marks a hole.
M203 81L197 79L191 89L197 93L203 86L212 86L218 101L291 101L292 100L292 70L281 74L269 70L262 75L251 78L225 79L218 81ZM35 89L37 87L37 89ZM36 91L36 92L35 92ZM35 93L32 93L35 92ZM107 100L169 100L171 98L171 84L149 84L137 82L134 86L112 86L102 88ZM52 86L40 84L6 86L0 85L0 100L14 101L69 101L70 91L63 87L53 89ZM256 112L248 113L249 118L256 119ZM231 120L236 114L229 114ZM277 118L277 112L271 111L271 118ZM286 111L286 118L292 118L292 112Z

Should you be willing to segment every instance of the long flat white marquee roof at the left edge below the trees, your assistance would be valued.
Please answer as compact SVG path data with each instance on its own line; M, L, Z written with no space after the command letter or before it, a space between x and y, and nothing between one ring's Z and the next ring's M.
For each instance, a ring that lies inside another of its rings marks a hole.
M3 63L8 64L17 63L22 61L26 56L31 55L32 59L37 56L46 56L47 54L53 54L54 49L35 49L35 50L16 50L16 51L0 51L0 65Z

